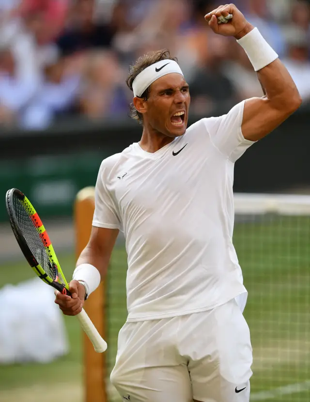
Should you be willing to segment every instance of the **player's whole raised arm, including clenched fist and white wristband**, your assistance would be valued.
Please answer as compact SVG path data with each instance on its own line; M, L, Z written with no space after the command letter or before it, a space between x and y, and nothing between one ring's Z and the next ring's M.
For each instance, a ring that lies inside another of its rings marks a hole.
M220 16L226 24L218 24ZM234 6L220 6L205 15L211 29L220 35L233 36L248 55L265 95L247 99L244 104L241 130L243 137L257 141L283 123L301 104L294 81L278 59L278 54Z

